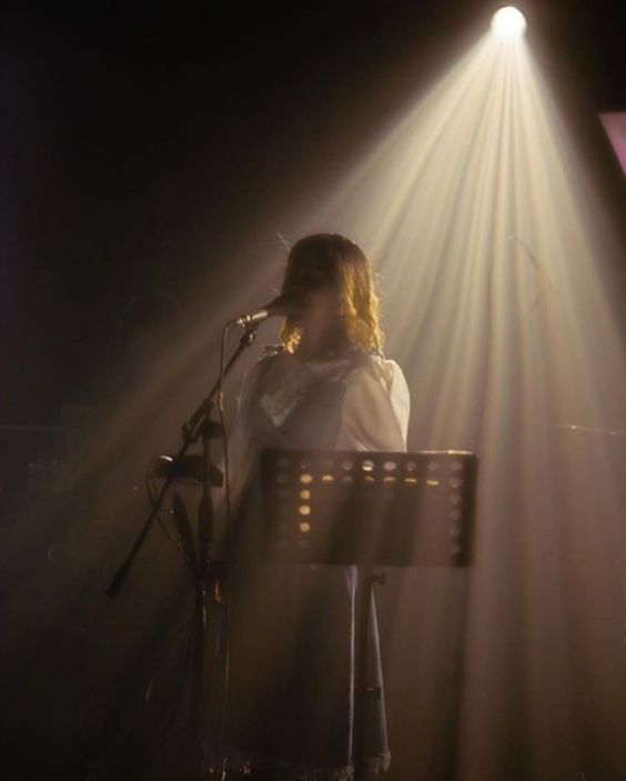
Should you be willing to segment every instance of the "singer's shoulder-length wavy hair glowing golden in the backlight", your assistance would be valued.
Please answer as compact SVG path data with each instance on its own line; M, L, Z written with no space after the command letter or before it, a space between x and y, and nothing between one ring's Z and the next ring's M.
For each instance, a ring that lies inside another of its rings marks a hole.
M282 293L327 284L339 291L340 320L346 341L367 352L382 352L381 304L372 263L353 241L339 233L300 239L287 256ZM301 329L287 318L281 338L284 347L295 352Z

